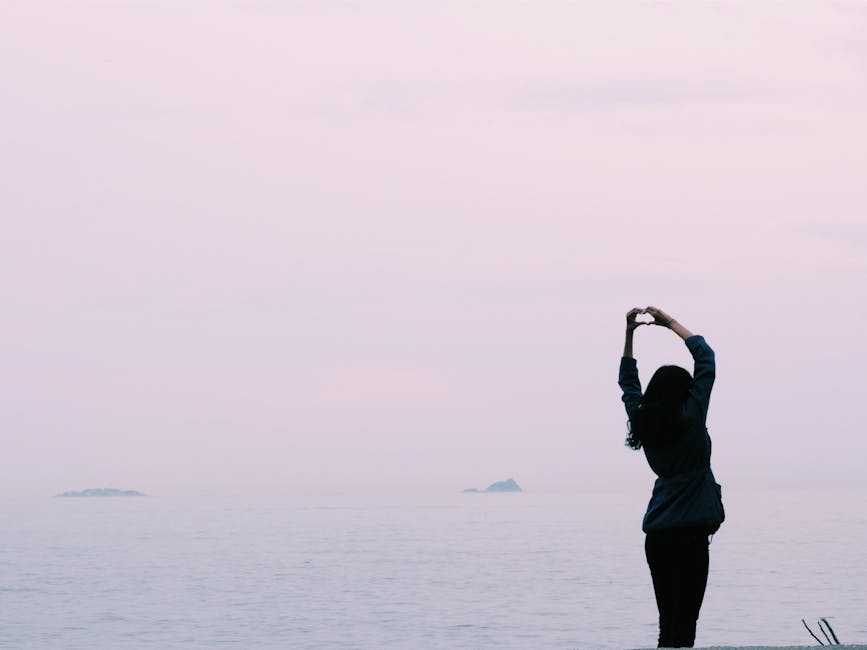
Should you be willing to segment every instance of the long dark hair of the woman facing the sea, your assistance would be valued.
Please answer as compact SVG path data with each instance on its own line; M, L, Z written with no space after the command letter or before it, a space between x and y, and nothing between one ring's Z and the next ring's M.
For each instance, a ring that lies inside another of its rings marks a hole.
M641 401L629 413L626 444L633 449L668 447L683 431L683 405L692 375L680 366L662 366L651 377Z

